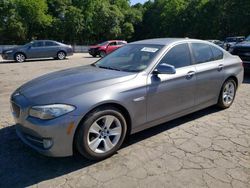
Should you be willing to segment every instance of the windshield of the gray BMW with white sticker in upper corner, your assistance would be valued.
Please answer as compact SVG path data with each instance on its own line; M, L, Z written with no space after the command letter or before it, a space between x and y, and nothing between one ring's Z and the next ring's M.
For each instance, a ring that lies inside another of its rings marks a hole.
M162 48L162 45L129 44L93 65L111 70L140 72L148 67Z

